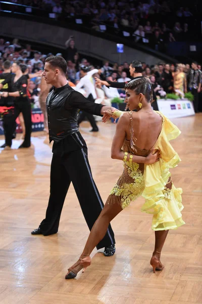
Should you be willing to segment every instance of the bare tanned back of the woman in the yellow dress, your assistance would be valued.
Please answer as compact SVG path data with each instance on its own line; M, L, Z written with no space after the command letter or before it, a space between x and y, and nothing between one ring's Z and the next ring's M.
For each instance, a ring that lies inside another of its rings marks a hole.
M162 117L156 112L132 112L128 116L129 124L126 130L126 139L131 139L131 127L135 137L135 145L144 150L150 150L156 143L162 130ZM132 122L131 122L132 118Z

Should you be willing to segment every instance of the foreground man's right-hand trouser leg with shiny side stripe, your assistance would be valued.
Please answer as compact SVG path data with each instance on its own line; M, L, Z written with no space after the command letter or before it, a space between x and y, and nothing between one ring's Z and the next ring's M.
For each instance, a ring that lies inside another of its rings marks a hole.
M81 149L70 153L64 163L74 185L83 215L89 229L92 229L94 222L103 210L104 204L92 178L90 165L87 158L87 149L82 148L82 142L78 133L72 135L74 140L80 141ZM115 244L114 232L109 225L107 233L97 245L97 249Z

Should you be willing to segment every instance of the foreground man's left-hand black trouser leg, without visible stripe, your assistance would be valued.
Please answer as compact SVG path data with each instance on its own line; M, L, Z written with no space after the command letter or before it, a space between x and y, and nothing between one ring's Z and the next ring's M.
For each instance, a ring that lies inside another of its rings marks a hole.
M54 154L51 163L51 189L48 206L45 219L39 226L44 236L58 232L60 216L70 183L70 177L62 165L61 157Z

